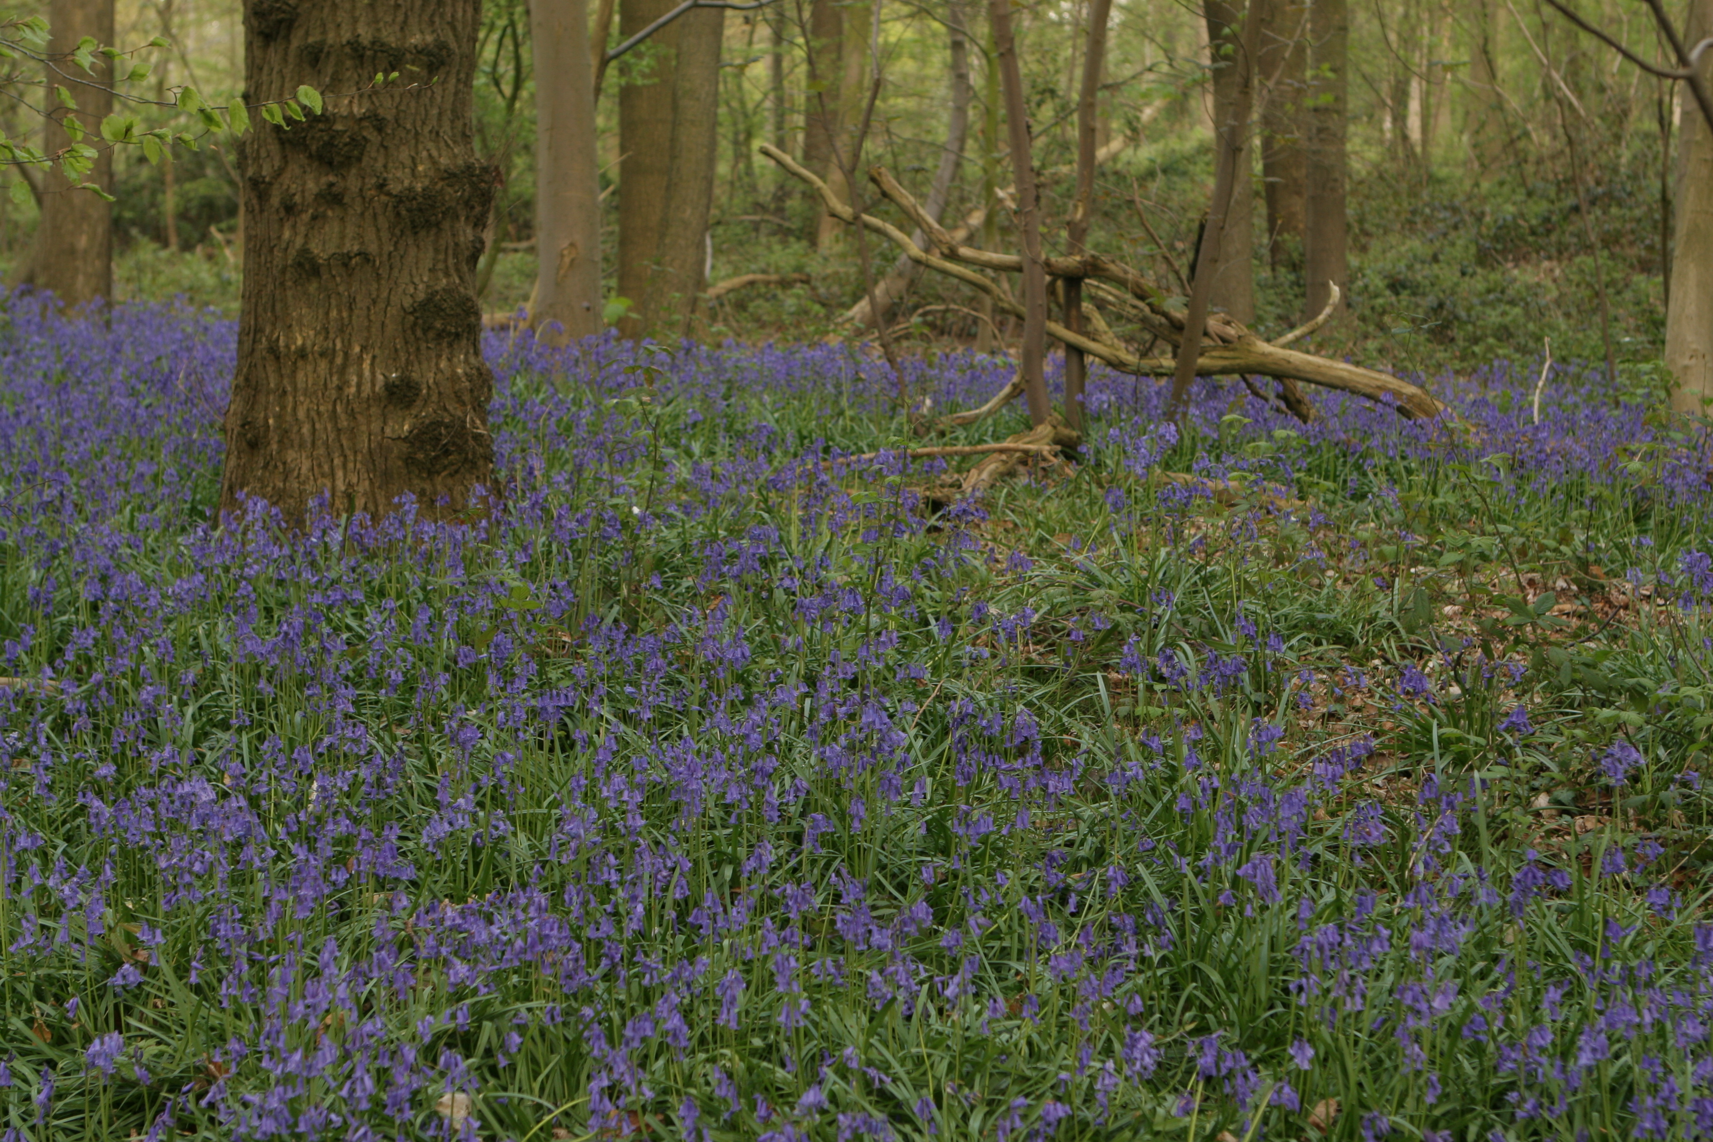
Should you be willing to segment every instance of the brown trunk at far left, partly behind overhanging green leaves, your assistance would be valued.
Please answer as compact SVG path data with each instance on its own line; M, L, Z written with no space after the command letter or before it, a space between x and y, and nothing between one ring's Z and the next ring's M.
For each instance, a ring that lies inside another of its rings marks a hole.
M113 43L113 0L53 0L48 7L53 39L48 53L65 75L86 77L69 58L84 36L94 36L101 46ZM96 57L94 84L108 84L111 67ZM84 123L86 142L98 147L94 170L84 175L86 183L113 192L113 151L101 142L101 120L113 111L113 96L104 87L75 84L48 72L48 89L55 86L72 91L77 99L77 118ZM48 116L43 151L55 154L72 146L70 135L60 125L67 115L50 98L55 110ZM41 223L36 228L36 248L29 269L21 276L24 284L51 289L60 305L79 306L96 298L113 296L113 207L89 190L72 190L58 164L41 180Z

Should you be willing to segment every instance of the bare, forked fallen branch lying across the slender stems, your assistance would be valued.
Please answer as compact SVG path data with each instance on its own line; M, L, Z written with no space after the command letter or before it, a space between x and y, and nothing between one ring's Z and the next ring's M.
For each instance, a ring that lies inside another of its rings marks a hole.
M778 163L788 175L812 187L821 195L821 200L826 204L827 212L833 217L850 226L863 226L884 236L887 241L903 250L911 262L947 277L956 277L958 281L988 294L994 300L995 308L1023 317L1023 306L1011 298L1009 291L1000 289L992 279L980 272L1023 272L1021 257L1014 253L997 253L992 250L973 250L956 241L956 238L944 228L923 226L923 233L930 235L930 243L937 247L937 250L930 253L911 241L910 235L901 231L898 226L874 217L872 214L856 214L833 192L831 187L827 187L814 173L803 170L803 166L783 151L773 147L771 144L762 144L761 152ZM927 221L915 199L884 168L874 168L874 171L870 171L870 178L882 195L911 217L911 223ZM1125 317L1137 320L1144 329L1148 329L1149 334L1160 337L1173 348L1182 344L1184 315L1168 310L1165 296L1160 289L1136 271L1119 265L1117 262L1112 262L1098 253L1081 257L1048 257L1043 260L1047 264L1047 272L1053 277L1083 277L1098 281L1100 286L1105 288L1096 288L1096 293L1108 301L1122 300L1117 308L1122 308ZM1435 401L1432 394L1420 385L1413 385L1406 380L1400 380L1398 377L1381 373L1372 368L1362 368L1360 365L1348 365L1345 361L1334 361L1331 358L1285 348L1290 341L1319 329L1321 324L1322 317L1316 317L1307 325L1295 329L1280 337L1278 342L1269 344L1232 317L1215 315L1208 320L1201 351L1197 353L1196 375L1257 375L1302 382L1319 385L1322 389L1353 392L1370 401L1391 401L1403 416L1410 418L1434 418L1446 411L1446 406ZM1065 329L1059 322L1047 322L1048 337L1053 337L1060 344L1081 349L1084 354L1098 358L1119 372L1141 377L1170 377L1175 368L1175 361L1172 358L1143 358L1132 353L1125 346L1119 344L1117 339L1101 327L1095 327L1089 332L1096 336L1077 334ZM1286 402L1292 409L1302 414L1300 409L1305 409L1307 404L1298 404L1298 401L1300 394L1286 396Z

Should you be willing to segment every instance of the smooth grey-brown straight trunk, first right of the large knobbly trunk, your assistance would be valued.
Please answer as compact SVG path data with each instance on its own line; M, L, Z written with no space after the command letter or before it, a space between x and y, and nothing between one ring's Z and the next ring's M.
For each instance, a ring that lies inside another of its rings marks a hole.
M562 344L601 332L601 207L584 0L534 0L536 289L529 322Z

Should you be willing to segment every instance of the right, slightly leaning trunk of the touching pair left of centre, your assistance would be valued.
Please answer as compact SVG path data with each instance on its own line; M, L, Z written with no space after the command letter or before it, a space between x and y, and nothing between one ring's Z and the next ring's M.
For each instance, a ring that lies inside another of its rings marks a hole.
M719 149L719 50L725 10L695 9L678 17L678 67L671 104L671 180L654 272L642 303L644 330L658 341L690 336L707 269L707 216L714 200Z

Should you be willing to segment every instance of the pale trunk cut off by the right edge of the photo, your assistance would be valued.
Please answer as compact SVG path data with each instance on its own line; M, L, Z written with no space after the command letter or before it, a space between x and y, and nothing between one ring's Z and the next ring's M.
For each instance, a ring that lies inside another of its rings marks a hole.
M1684 45L1713 36L1713 0L1694 0ZM1713 86L1713 53L1701 57L1703 82ZM1665 312L1665 365L1672 370L1672 407L1706 413L1713 399L1713 125L1684 92L1677 120L1677 219L1672 296Z

